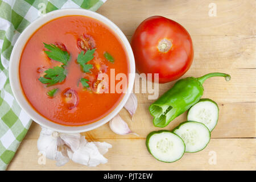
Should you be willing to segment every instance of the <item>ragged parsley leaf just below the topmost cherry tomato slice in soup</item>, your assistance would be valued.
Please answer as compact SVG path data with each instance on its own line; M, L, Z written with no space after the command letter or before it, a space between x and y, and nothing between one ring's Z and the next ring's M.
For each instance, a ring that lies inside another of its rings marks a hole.
M77 63L81 65L82 71L85 73L90 72L90 69L93 68L92 64L86 64L88 61L93 59L93 53L96 49L88 50L84 53L84 51L80 52L80 54L77 57Z

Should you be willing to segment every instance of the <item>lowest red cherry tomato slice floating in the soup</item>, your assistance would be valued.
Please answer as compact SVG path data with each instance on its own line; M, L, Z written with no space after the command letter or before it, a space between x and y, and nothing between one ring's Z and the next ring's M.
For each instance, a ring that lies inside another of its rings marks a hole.
M64 102L67 104L68 109L73 109L79 104L79 96L73 89L65 89L63 91Z

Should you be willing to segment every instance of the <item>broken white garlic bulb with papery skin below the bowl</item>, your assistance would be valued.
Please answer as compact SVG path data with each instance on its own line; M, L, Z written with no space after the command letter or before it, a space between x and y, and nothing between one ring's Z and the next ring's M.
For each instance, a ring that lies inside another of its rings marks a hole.
M106 142L87 142L79 133L58 133L42 127L38 139L38 150L46 158L56 160L56 166L63 166L72 159L73 162L86 166L97 166L108 162L103 155L112 145Z

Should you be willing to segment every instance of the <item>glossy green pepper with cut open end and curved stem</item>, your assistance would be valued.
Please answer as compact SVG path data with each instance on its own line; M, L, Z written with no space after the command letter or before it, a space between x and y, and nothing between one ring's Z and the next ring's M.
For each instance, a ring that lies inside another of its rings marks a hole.
M187 77L177 81L170 90L150 105L149 110L154 117L154 126L167 126L172 120L196 104L203 96L204 81L214 76L225 77L226 81L231 78L225 73L209 73L199 78Z

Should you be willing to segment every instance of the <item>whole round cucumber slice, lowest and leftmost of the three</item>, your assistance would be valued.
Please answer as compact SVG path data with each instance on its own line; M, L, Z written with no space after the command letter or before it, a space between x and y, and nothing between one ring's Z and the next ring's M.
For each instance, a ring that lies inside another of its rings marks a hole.
M185 152L183 140L168 130L153 131L148 134L146 146L155 159L165 163L179 160Z

